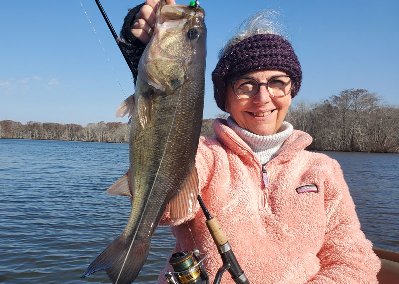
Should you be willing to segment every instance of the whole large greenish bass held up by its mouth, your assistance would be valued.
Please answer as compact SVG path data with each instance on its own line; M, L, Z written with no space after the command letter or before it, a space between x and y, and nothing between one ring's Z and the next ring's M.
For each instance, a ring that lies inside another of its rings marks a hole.
M130 196L131 214L122 234L81 277L105 270L112 283L132 283L165 210L178 222L198 206L195 156L204 104L204 18L198 5L158 4L135 92L116 111L119 117L131 116L130 168L107 193Z

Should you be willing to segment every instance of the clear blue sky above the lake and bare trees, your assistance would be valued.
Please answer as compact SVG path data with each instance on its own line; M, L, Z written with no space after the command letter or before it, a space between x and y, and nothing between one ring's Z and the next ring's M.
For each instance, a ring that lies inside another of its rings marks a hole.
M140 1L101 3L119 34L127 8ZM238 24L263 9L281 13L301 62L303 81L294 101L320 102L363 88L399 105L398 1L202 0L200 5L208 30L204 118L221 113L210 78L219 49ZM0 1L0 26L0 120L83 126L127 121L114 112L134 92L132 75L94 0Z

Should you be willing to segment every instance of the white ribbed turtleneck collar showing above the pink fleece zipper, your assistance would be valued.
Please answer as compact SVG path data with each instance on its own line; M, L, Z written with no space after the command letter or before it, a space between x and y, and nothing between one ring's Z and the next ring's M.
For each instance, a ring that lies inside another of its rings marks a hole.
M277 156L285 139L287 139L294 130L294 127L290 123L284 121L276 134L265 136L257 135L240 127L231 116L227 118L227 125L251 147L262 165Z

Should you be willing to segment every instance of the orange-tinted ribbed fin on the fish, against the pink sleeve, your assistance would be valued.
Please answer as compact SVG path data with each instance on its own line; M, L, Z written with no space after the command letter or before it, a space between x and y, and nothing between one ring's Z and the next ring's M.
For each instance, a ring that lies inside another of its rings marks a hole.
M169 202L171 221L176 222L194 211L197 204L198 175L196 166L193 168L186 180L183 182L180 192Z

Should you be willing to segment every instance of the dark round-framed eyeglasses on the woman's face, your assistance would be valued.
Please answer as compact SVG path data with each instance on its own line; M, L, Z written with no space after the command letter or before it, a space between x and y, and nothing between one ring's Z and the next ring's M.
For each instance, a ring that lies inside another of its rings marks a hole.
M231 81L234 94L240 99L249 99L254 97L261 85L265 85L270 95L273 97L283 97L291 92L292 82L295 76L279 75L269 79L266 83L259 83L253 78L240 78Z

